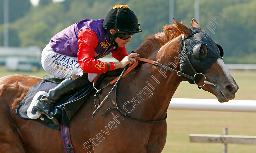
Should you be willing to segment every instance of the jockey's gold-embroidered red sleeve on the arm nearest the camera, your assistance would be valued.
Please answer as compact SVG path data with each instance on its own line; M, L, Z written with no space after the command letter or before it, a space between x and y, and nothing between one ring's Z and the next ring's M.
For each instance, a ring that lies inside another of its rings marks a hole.
M113 62L106 63L94 60L94 49L98 45L98 38L91 29L84 29L78 32L78 52L77 59L80 68L85 73L105 73L115 70Z

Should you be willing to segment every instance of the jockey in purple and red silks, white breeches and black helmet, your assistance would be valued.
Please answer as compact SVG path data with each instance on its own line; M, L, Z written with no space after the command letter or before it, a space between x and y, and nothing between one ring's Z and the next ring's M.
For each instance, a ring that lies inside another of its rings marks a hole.
M136 62L137 53L126 52L125 45L132 35L142 30L138 19L127 5L115 5L105 19L84 19L52 37L42 52L44 70L66 78L49 90L34 108L48 114L51 107L63 97L91 83L98 73L105 73ZM119 62L101 62L98 59L112 53ZM56 119L55 124L58 122Z

